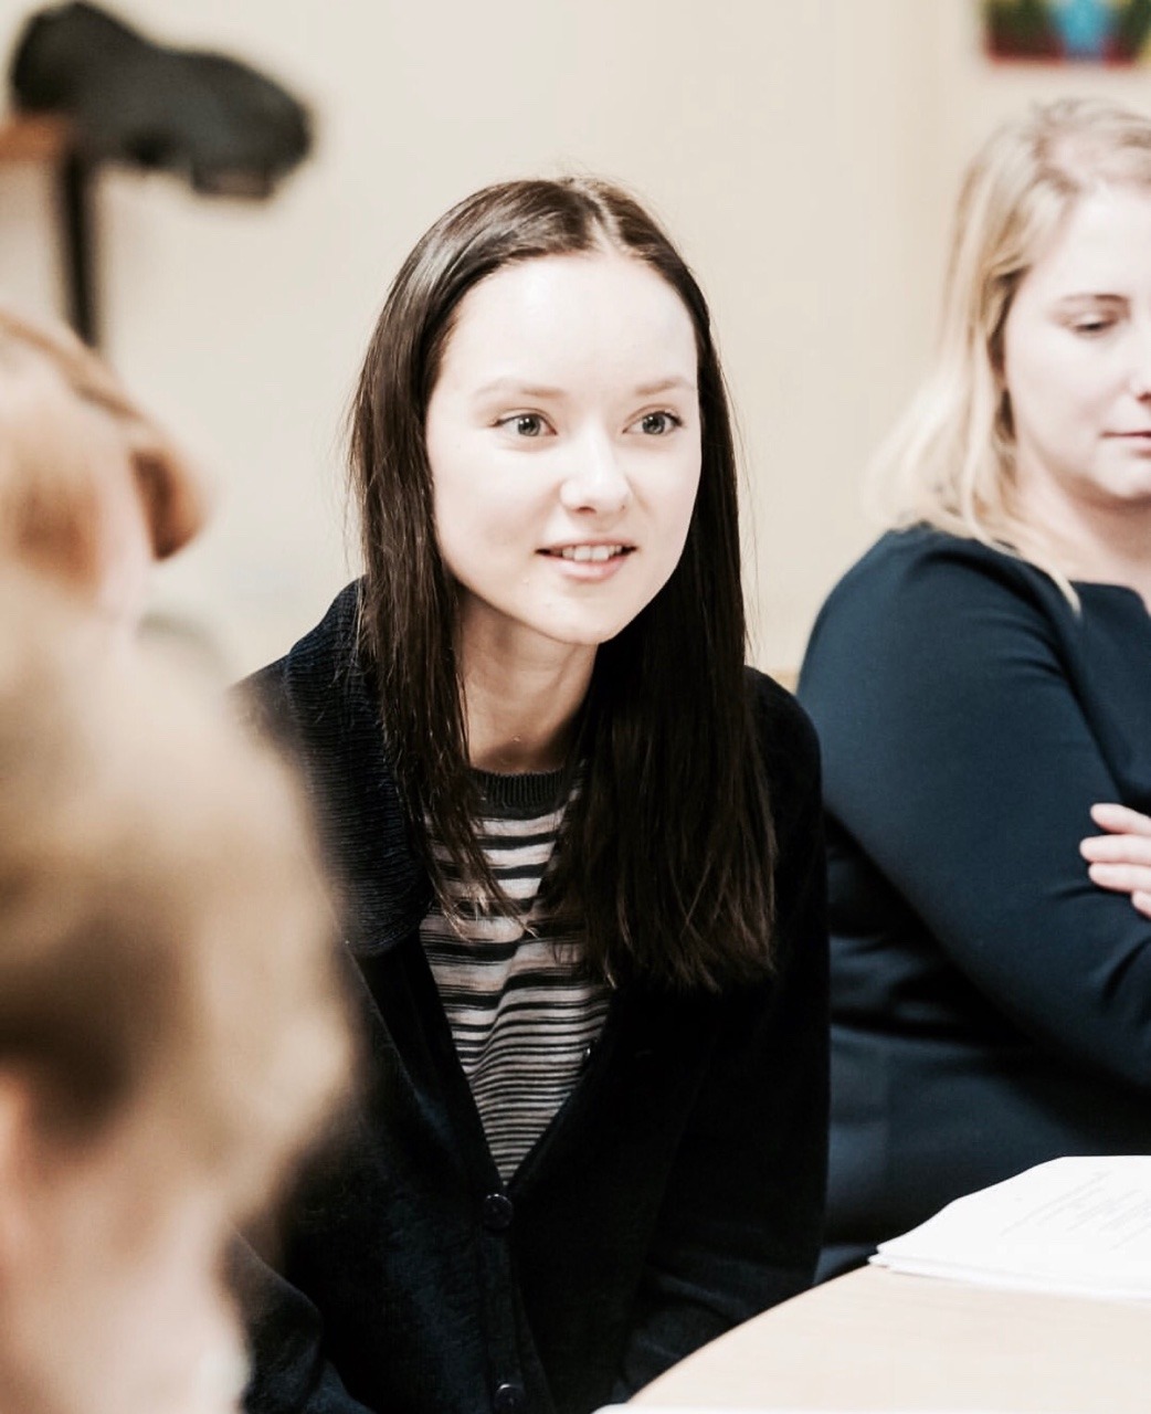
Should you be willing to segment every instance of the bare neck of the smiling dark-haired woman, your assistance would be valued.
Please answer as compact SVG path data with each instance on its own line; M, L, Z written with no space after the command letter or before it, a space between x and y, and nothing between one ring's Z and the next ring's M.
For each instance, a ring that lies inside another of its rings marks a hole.
M481 771L556 771L567 759L595 649L464 633L468 758Z

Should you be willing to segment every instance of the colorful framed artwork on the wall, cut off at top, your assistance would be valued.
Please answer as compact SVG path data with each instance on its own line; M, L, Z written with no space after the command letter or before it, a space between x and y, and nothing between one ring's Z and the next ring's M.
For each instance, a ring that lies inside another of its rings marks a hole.
M980 0L987 52L1048 64L1151 59L1151 0Z

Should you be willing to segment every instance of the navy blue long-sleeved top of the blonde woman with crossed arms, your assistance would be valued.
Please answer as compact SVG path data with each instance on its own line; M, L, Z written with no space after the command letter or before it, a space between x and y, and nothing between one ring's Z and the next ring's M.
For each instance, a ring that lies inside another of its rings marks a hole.
M1151 921L1094 887L1090 806L1151 812L1151 617L976 542L889 533L824 605L833 967L827 1247L850 1266L1061 1154L1151 1151Z

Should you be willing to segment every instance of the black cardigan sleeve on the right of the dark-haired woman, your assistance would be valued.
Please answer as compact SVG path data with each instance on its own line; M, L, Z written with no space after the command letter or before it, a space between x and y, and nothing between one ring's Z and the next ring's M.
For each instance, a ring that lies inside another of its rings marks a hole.
M827 1144L826 870L819 748L782 689L766 742L778 844L778 969L721 1003L711 1063L682 1135L615 1400L731 1326L806 1290Z

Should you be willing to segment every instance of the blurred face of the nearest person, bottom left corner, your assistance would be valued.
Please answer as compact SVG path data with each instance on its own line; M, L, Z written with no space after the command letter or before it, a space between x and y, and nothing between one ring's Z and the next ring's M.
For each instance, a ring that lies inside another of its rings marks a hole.
M129 1118L92 1148L11 1145L0 1165L0 1407L232 1414L239 1319L218 1181L175 1174L178 1138Z

